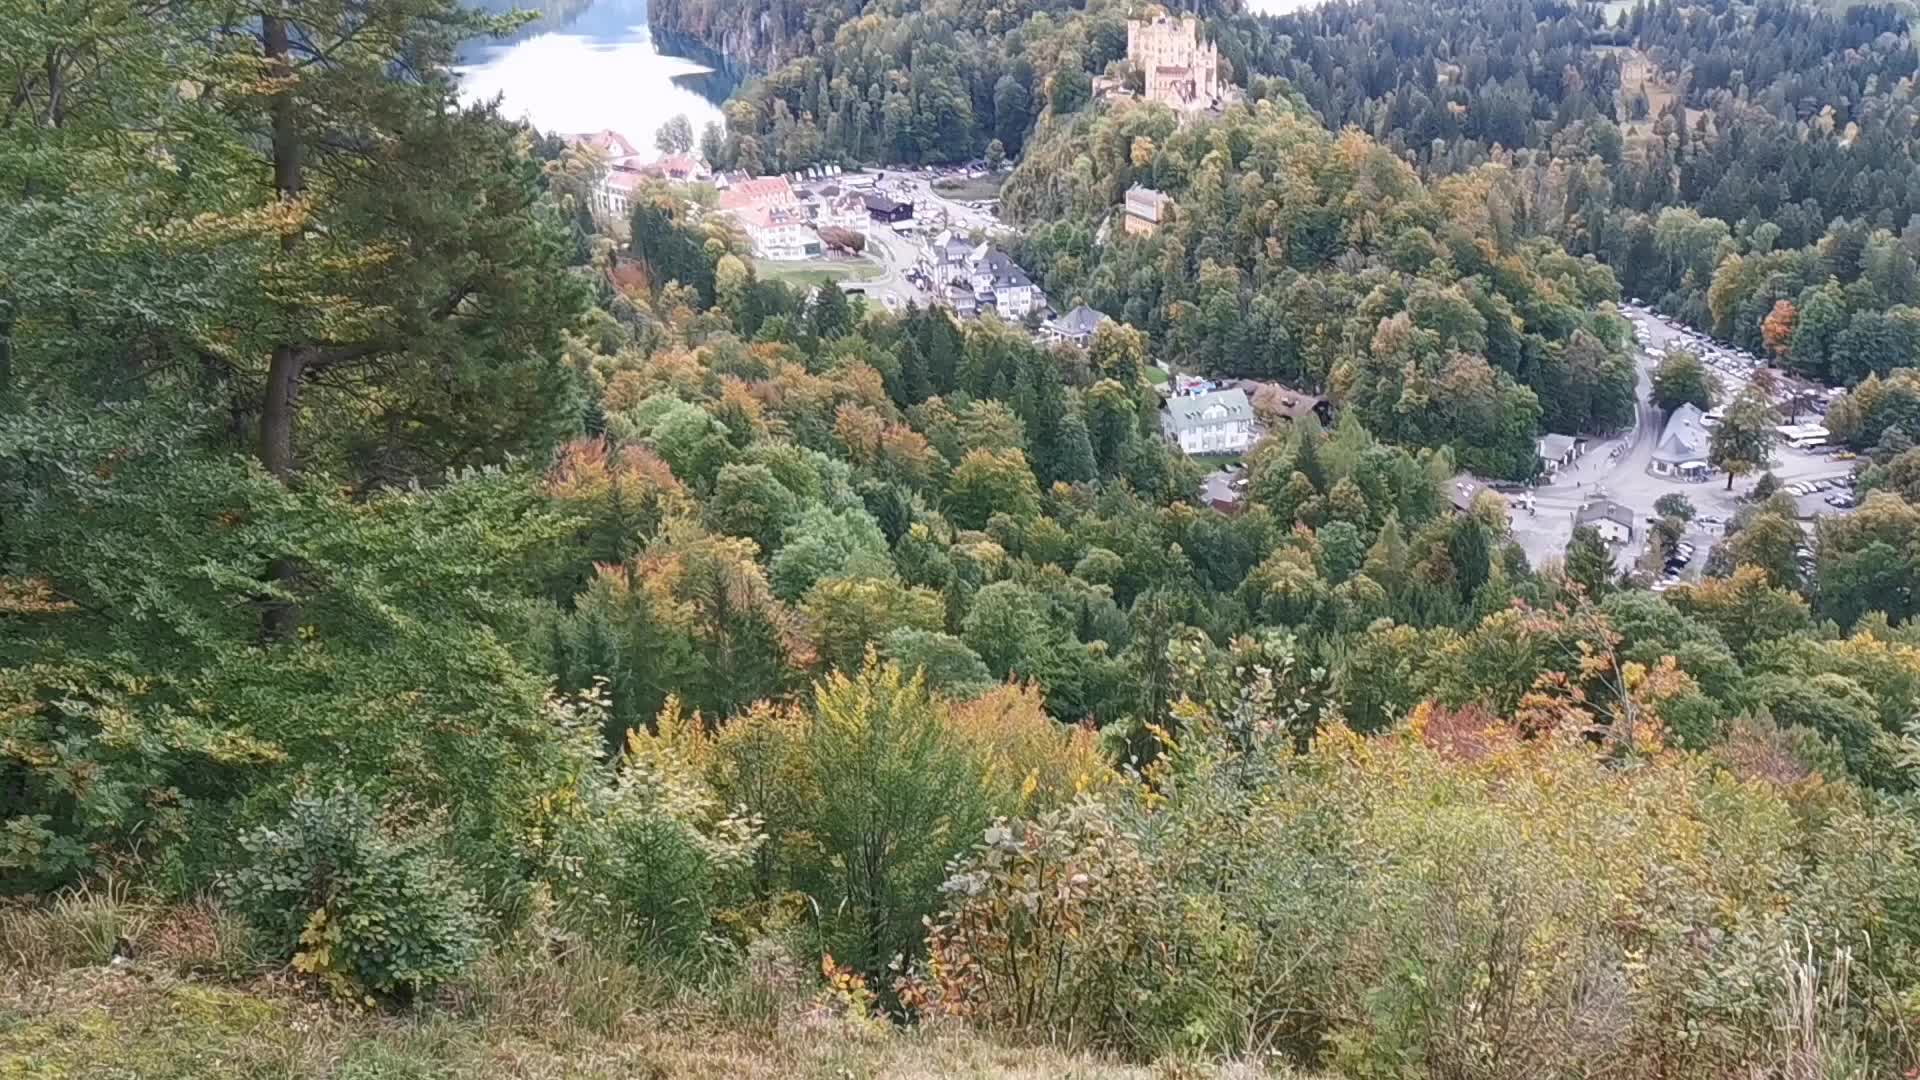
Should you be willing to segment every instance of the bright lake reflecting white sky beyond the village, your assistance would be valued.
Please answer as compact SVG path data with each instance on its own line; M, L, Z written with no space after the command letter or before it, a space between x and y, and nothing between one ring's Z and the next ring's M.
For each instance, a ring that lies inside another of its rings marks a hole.
M653 133L685 113L693 135L720 119L735 79L668 56L647 29L647 0L480 0L482 10L541 17L511 38L461 50L461 96L501 98L501 111L543 133L611 127L653 152Z

